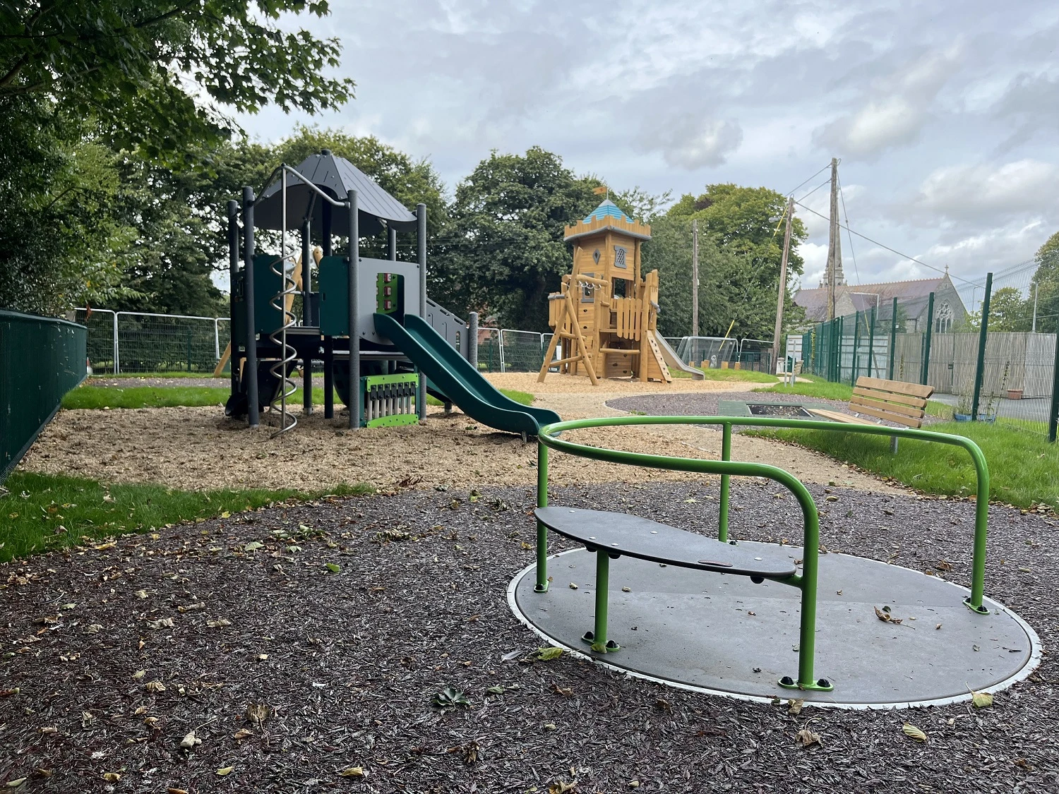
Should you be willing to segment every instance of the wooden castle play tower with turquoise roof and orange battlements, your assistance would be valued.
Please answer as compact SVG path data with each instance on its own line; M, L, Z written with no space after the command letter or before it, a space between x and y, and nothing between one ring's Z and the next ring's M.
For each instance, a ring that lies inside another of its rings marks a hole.
M567 227L574 245L574 266L549 295L549 325L554 331L538 380L549 371L599 378L634 377L672 382L669 367L702 379L658 333L659 273L641 275L640 247L651 228L640 223L609 199L588 217ZM559 359L553 361L556 349Z

